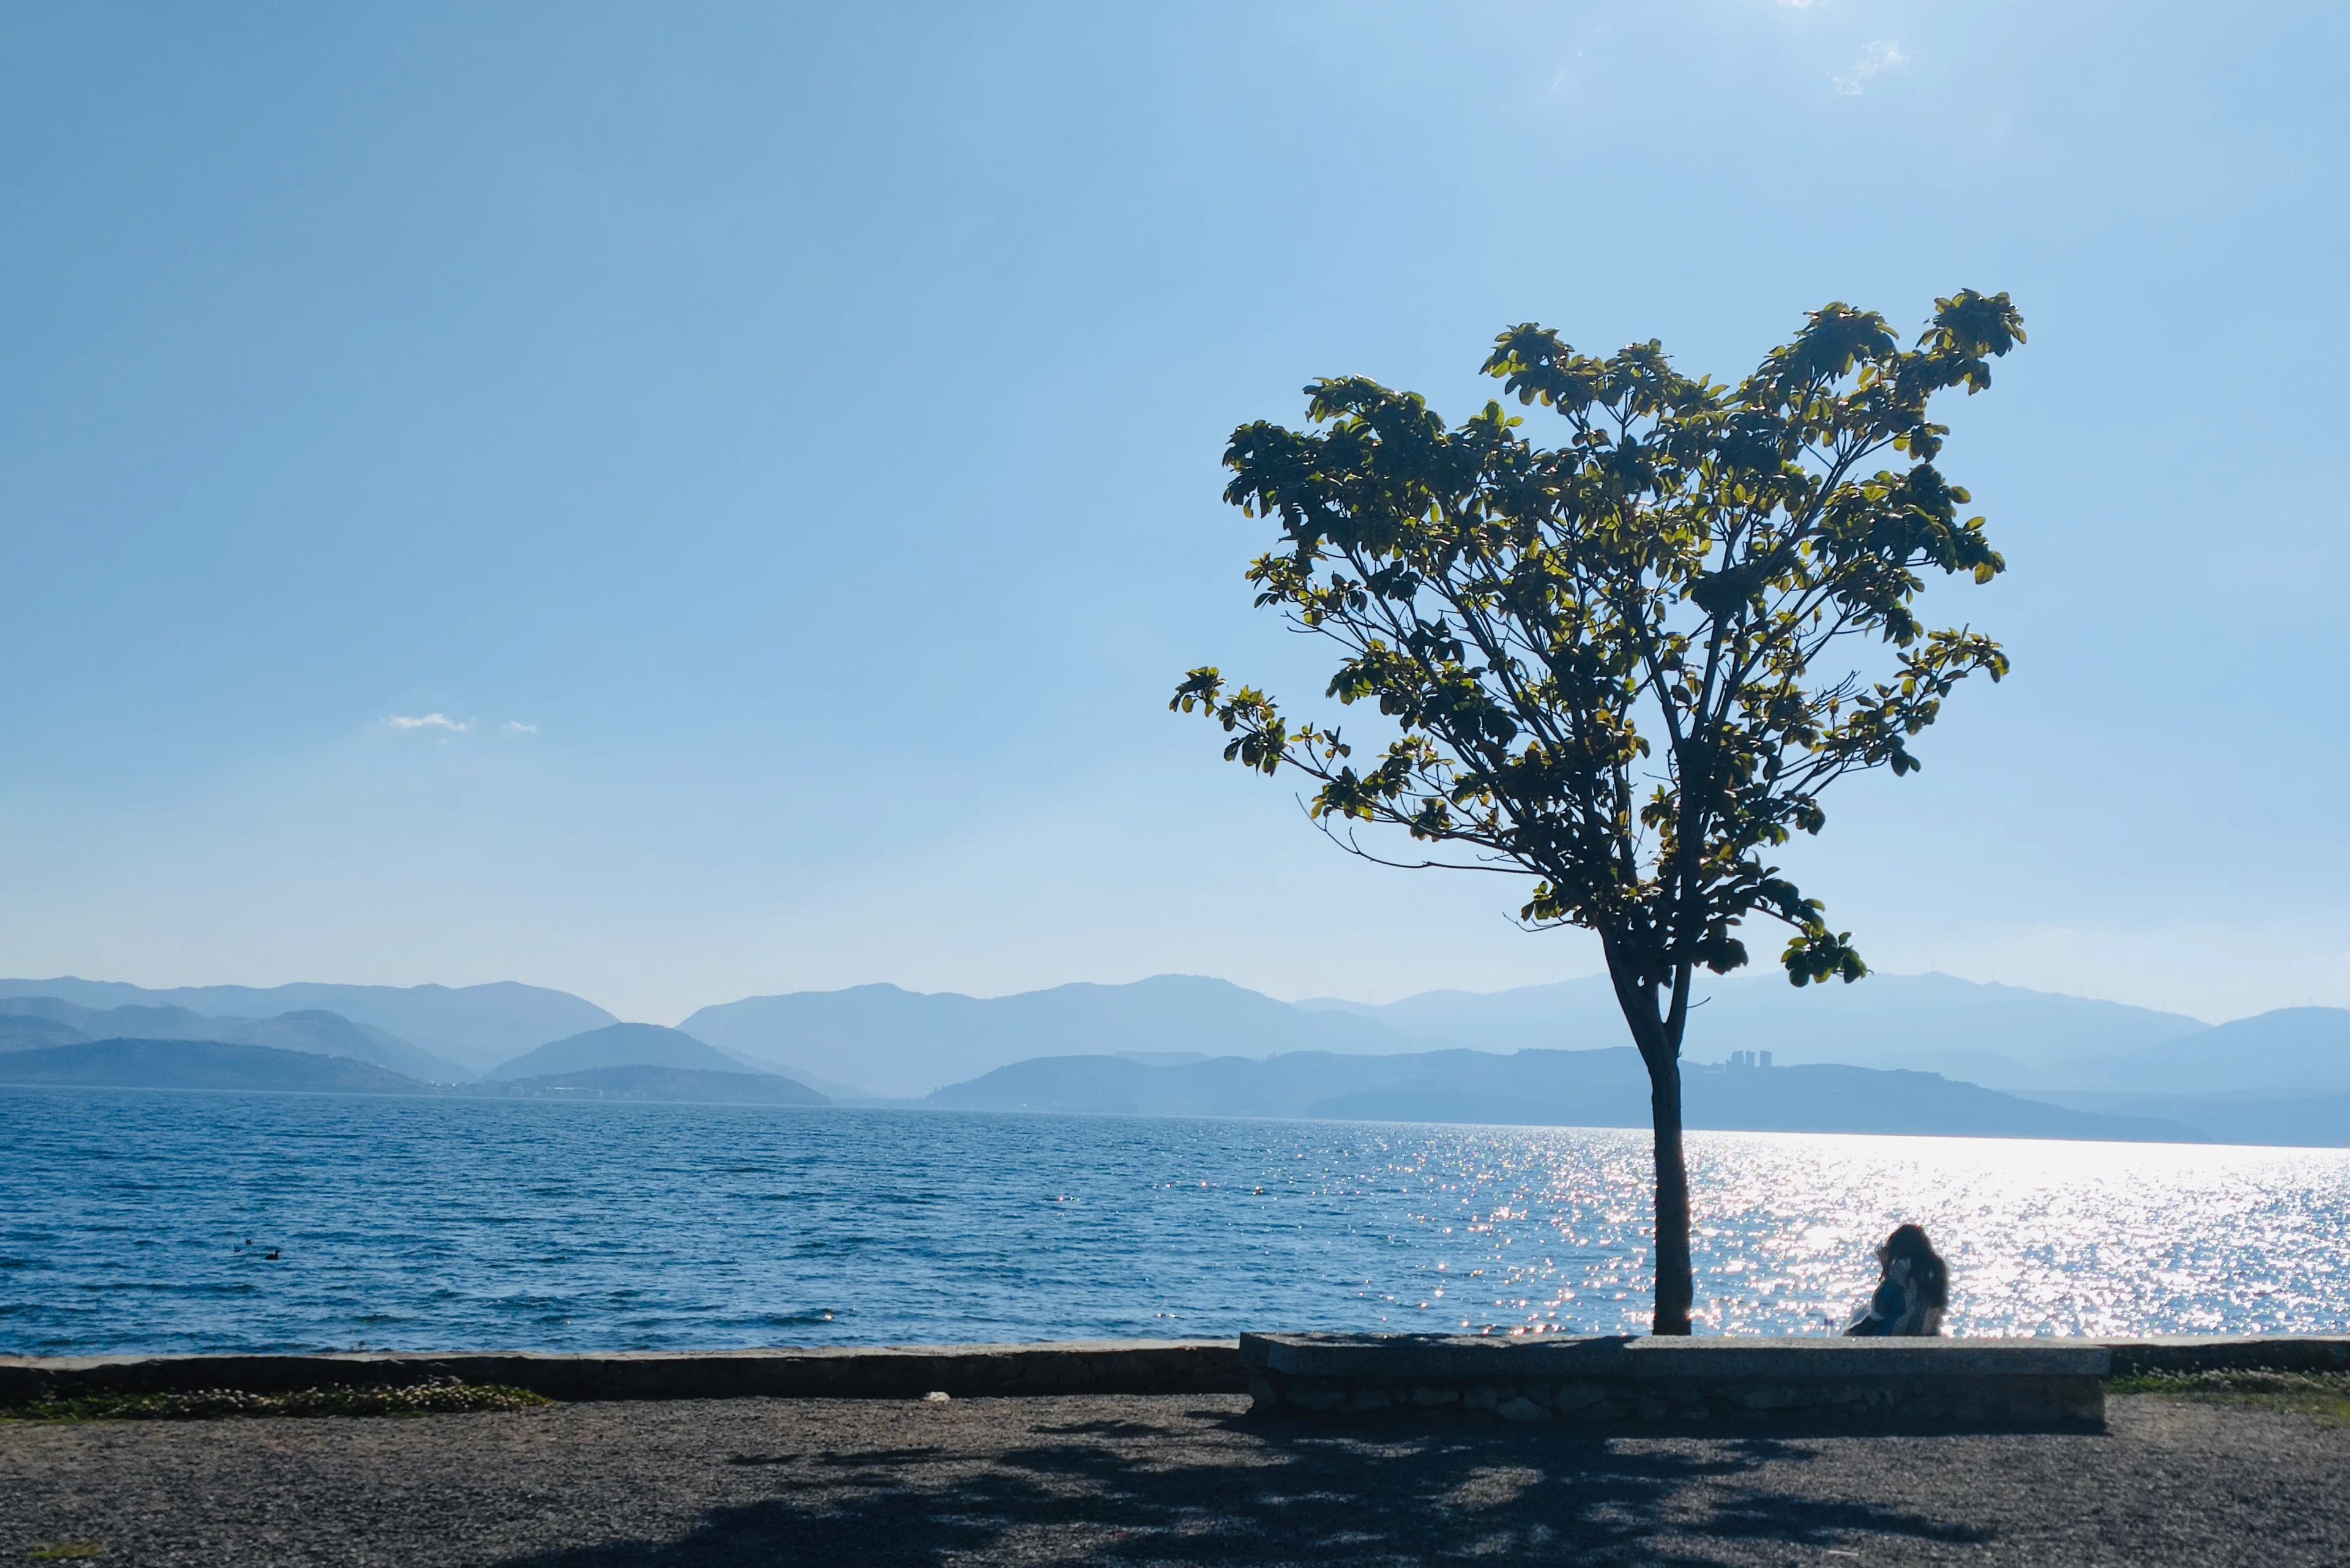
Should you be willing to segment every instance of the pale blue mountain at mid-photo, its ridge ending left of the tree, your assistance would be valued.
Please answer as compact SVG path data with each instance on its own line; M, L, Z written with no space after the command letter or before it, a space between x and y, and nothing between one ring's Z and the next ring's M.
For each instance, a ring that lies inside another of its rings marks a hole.
M891 1098L919 1098L1029 1056L1417 1048L1377 1020L1302 1011L1198 976L1060 985L987 999L858 985L705 1006L679 1027L794 1077L855 1084Z

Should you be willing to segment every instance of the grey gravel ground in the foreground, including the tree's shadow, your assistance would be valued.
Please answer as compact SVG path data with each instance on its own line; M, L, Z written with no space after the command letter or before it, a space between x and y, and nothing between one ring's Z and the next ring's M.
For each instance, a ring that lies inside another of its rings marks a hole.
M583 1403L0 1425L0 1563L2350 1563L2350 1429L1267 1425L1243 1399Z

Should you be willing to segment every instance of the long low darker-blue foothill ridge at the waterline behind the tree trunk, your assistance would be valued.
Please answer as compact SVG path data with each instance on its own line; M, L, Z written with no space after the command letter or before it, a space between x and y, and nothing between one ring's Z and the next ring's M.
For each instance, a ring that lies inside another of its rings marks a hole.
M1936 1133L1967 1138L2193 1140L2153 1117L2021 1100L1932 1072L1871 1067L1708 1067L1683 1074L1692 1128ZM1058 1110L1196 1117L1328 1117L1502 1126L1650 1124L1647 1070L1603 1051L1434 1051L1401 1058L1297 1053L1152 1067L1114 1056L1013 1063L931 1095L956 1110Z

